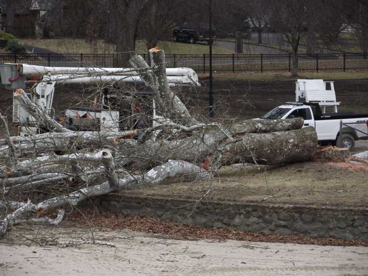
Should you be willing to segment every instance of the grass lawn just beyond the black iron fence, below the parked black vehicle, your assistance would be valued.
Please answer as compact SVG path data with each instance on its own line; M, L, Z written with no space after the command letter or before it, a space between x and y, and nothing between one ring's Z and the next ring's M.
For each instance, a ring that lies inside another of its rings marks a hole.
M23 44L31 45L48 49L53 52L72 54L72 53L99 53L109 54L114 52L114 45L104 43L103 40L98 40L96 45L91 45L84 39L59 38L59 39L22 39ZM167 54L208 54L209 47L206 44L190 44L178 43L171 41L160 41L158 46L165 50ZM137 41L135 44L137 53L147 52L144 41ZM220 47L213 47L214 54L231 54L233 50Z

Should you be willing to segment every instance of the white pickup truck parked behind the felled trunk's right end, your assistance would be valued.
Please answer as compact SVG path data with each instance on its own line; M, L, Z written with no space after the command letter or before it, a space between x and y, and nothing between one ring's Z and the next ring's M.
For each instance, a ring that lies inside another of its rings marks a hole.
M353 150L356 140L368 139L368 114L354 114L353 112L322 113L318 103L286 102L273 108L264 116L257 119L290 119L302 117L304 127L313 126L317 132L319 143L335 144L339 138L340 121L343 125L341 146ZM357 123L356 125L354 123ZM359 123L359 130L358 129ZM361 123L364 129L361 128Z

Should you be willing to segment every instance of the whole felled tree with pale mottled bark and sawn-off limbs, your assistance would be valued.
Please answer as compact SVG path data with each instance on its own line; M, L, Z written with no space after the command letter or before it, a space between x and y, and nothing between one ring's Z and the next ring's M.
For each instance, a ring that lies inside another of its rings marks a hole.
M316 133L312 127L302 128L301 118L198 122L168 85L164 52L154 48L150 55L152 67L139 56L130 61L145 84L156 91L156 112L170 120L140 132L71 131L33 103L23 90L15 91L14 98L47 133L0 140L4 161L0 167L4 196L0 208L12 210L2 218L0 233L25 222L29 214L40 217L46 211L74 206L91 197L158 185L167 177L186 175L209 180L224 164L279 165L304 162L314 155ZM10 159L12 162L7 162ZM63 194L38 203L21 202L32 190L54 186ZM70 189L72 192L67 192ZM63 214L60 210L56 219L31 221L57 224Z

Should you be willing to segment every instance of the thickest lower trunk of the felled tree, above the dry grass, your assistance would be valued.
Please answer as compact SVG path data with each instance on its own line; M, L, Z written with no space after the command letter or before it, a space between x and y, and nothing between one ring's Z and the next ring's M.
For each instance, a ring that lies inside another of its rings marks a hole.
M311 160L317 148L317 134L313 127L271 133L245 133L228 139L217 130L197 132L185 139L173 141L147 141L139 148L125 146L122 140L118 146L128 156L135 156L135 162L165 162L181 159L188 162L202 162L205 156L226 154L232 163L259 162L274 165Z

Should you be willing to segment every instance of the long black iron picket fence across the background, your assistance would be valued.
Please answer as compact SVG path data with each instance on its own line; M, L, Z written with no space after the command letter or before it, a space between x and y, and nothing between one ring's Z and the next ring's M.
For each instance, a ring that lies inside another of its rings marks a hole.
M147 54L142 54L147 60ZM29 63L43 66L113 67L113 54L0 53L0 63ZM209 54L167 54L167 67L190 67L208 73ZM214 73L291 72L292 54L214 54ZM299 54L300 72L346 72L368 70L368 53Z

